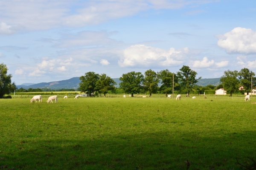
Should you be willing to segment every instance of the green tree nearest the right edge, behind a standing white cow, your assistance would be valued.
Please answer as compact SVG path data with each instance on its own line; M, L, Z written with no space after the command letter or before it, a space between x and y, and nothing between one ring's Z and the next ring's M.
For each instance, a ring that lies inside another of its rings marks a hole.
M247 95L251 92L252 78L255 76L253 71L250 71L248 68L242 68L238 73L238 78L240 80L240 85L244 87L244 92ZM254 79L253 79L254 80Z

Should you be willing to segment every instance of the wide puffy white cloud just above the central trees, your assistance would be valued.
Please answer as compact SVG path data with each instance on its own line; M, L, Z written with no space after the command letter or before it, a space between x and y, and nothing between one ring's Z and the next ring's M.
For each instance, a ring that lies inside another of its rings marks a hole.
M154 48L146 45L132 45L124 50L124 54L119 59L121 67L159 67L180 65L186 56L187 48L175 50L170 48L169 51Z

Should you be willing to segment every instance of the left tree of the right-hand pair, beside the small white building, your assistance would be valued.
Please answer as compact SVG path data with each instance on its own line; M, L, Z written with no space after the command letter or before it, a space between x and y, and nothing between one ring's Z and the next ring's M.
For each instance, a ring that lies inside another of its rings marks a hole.
M221 77L224 90L230 93L230 96L239 89L238 71L224 71L224 75Z

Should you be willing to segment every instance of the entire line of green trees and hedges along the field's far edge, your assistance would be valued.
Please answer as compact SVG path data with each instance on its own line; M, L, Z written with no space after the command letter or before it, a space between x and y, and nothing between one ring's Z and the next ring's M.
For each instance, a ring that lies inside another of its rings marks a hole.
M17 89L15 82L11 81L12 74L7 74L8 68L3 63L0 64L0 98L3 98L5 94L10 94L16 90L16 92L41 92L41 91L53 91L51 89ZM204 94L205 91L215 92L215 89L224 88L227 93L232 94L239 91L239 86L243 86L243 93L250 93L251 88L256 86L255 73L247 68L241 69L241 71L224 71L224 75L221 77L221 84L218 86L207 85L206 87L198 86L196 83L201 77L196 77L197 72L193 71L189 66L183 65L176 73L170 72L168 69L155 72L151 69L141 72L131 71L126 74L122 74L119 78L119 88L116 88L116 82L108 77L106 74L96 74L95 72L87 72L79 79L79 91L89 94L99 94L100 96L106 96L107 93L123 92L125 94L144 94L148 93L149 96L155 93L172 94L177 91L179 94L189 94L197 91L198 94ZM161 84L159 87L159 83ZM74 89L60 89L58 91L74 91ZM242 94L243 94L242 93Z

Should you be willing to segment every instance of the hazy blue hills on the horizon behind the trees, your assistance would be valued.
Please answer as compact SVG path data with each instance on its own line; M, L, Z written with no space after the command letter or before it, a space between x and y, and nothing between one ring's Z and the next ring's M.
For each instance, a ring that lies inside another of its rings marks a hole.
M219 85L221 78L213 78L213 79L199 79L197 85L200 86L207 86L207 85ZM119 78L113 78L113 80L116 82L116 87L119 87L119 83L121 82ZM22 85L17 85L17 88L50 88L52 90L58 90L63 88L79 88L80 83L79 77L73 77L71 79L67 80L61 80L57 82L41 82L37 84L33 83L23 83ZM161 84L159 83L159 86Z

